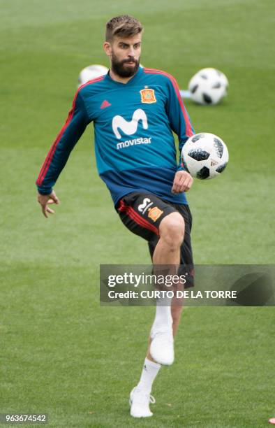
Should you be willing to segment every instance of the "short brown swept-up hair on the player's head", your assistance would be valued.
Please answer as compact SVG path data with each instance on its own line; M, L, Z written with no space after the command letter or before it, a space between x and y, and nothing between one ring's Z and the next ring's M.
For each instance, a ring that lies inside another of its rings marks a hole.
M105 39L111 42L114 36L135 36L143 30L140 21L129 15L115 16L106 24Z

